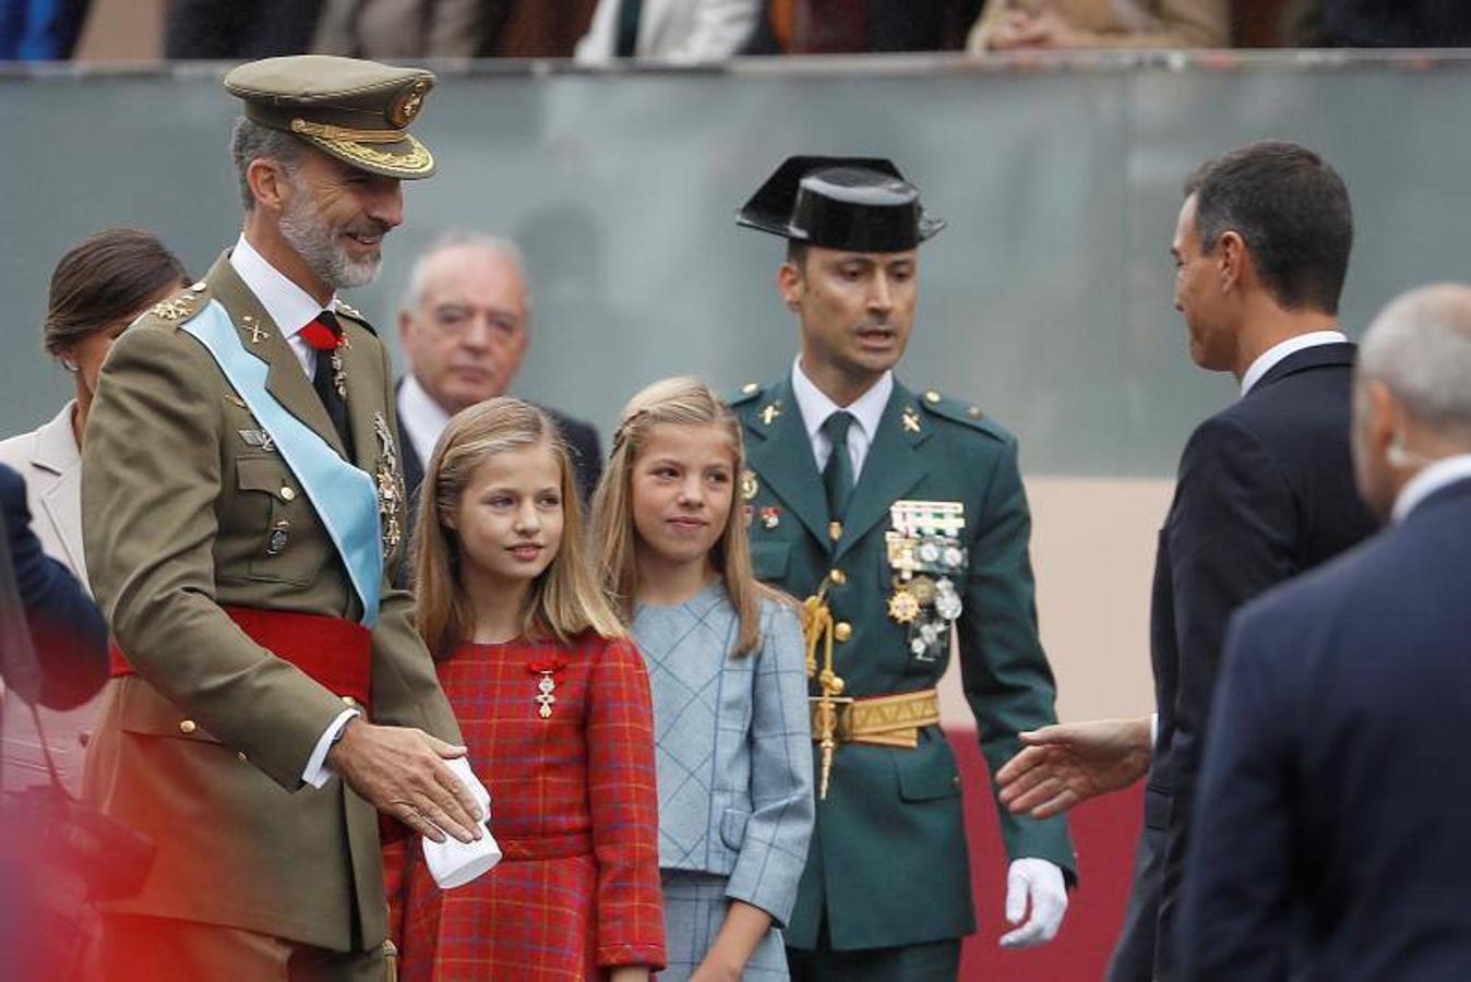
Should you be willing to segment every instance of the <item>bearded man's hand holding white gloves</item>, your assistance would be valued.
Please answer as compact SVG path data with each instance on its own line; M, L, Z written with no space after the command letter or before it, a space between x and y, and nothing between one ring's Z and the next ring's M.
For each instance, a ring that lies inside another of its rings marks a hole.
M472 842L482 835L484 816L469 788L444 766L444 760L465 753L465 747L422 729L353 719L328 751L327 763L375 809L419 835L443 842L447 832Z

